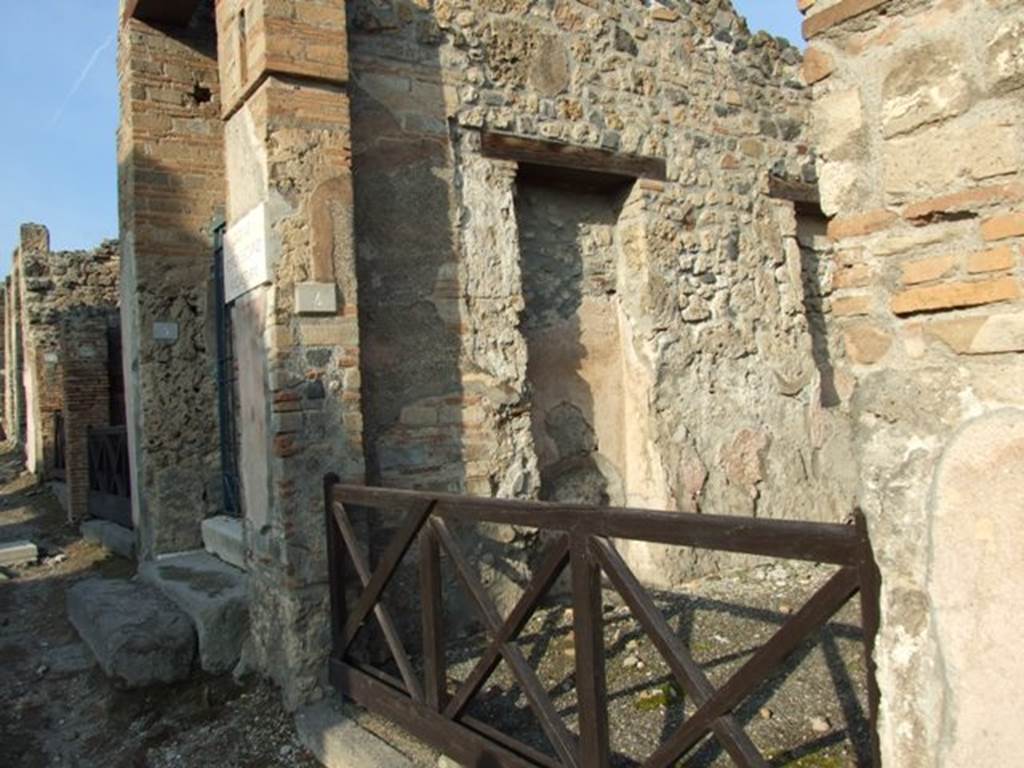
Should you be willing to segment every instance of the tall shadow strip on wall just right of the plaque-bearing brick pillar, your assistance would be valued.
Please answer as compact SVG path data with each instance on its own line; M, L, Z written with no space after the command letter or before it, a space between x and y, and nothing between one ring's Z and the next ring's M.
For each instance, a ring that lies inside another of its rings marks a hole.
M419 58L403 68L409 74L394 74L387 66L388 46L402 33L379 25L368 15L372 12L370 6L349 12L367 482L466 493L464 415L472 403L461 366L459 211L440 63L434 46L417 45ZM400 515L352 512L376 567ZM384 594L414 648L420 644L416 561L414 548ZM349 600L358 592L353 581L348 580ZM456 608L452 615L467 611ZM389 660L385 648L372 623L353 652L381 663Z

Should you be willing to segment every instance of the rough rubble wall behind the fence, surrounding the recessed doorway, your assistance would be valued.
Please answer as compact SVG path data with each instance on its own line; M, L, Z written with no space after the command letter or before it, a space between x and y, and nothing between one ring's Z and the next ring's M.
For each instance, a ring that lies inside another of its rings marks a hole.
M542 492L525 232L515 166L481 151L492 131L667 161L612 227L609 311L638 425L622 463L649 467L624 501L851 512L828 345L808 323L820 301L804 291L820 265L768 196L771 174L815 180L796 49L725 2L368 1L349 27L372 481ZM678 553L633 554L649 578L691 572Z

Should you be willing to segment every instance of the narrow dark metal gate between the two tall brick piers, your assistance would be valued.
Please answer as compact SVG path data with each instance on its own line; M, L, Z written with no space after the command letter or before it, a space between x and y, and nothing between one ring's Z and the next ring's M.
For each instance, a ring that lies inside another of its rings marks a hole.
M224 514L242 514L239 482L239 434L234 418L238 370L231 343L231 308L224 284L224 224L214 230L213 284L216 291L214 323L217 334L217 411L220 427L220 476Z

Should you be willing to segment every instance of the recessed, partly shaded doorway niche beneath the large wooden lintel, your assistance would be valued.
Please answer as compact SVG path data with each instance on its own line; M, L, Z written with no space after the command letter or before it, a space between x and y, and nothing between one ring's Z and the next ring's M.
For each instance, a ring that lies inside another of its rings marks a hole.
M559 185L530 170L520 169L516 213L541 499L625 505L614 230L629 186L596 174Z

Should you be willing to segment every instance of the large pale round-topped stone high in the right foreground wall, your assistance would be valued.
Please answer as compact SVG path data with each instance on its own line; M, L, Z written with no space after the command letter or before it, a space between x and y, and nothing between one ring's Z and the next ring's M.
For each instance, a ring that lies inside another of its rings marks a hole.
M967 56L953 40L934 41L893 61L882 85L886 136L959 115L971 105Z

